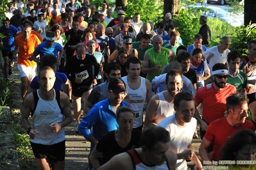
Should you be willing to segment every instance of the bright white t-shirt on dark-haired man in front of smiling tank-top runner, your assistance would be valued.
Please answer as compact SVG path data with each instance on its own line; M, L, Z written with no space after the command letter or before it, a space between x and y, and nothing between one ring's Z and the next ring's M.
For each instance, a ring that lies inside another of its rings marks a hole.
M180 127L176 121L175 114L173 114L162 120L157 126L166 128L171 137L170 146L175 147L177 153L182 153L183 150L187 149L187 146L189 146L193 139L194 131L196 130L196 119L192 118L185 127ZM186 160L178 159L176 162L176 169L187 169Z

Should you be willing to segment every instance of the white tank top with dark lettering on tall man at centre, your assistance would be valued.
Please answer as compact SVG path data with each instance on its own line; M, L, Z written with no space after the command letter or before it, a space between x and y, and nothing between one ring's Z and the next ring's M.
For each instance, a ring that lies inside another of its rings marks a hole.
M127 76L122 77L122 80L127 86L131 108L135 112L133 128L141 127L143 123L143 107L147 95L145 78L141 77L141 86L138 89L130 89L127 82Z

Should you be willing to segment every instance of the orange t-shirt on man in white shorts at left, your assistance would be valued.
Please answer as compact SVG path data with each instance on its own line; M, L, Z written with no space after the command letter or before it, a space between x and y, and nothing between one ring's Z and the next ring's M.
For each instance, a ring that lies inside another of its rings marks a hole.
M28 40L24 40L22 35L16 36L14 46L19 47L18 64L25 66L35 66L35 61L29 61L27 58L31 57L37 45L41 43L36 35L30 34Z

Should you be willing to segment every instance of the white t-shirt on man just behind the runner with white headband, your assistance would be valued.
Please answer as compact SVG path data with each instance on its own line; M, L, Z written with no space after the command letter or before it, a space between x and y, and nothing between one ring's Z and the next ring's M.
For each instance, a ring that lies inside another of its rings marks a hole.
M206 59L209 58L210 55L214 55L208 63L210 74L212 74L212 66L214 66L216 63L226 63L228 52L230 52L230 50L226 49L222 54L219 53L218 46L214 46L203 52L203 56L205 56Z

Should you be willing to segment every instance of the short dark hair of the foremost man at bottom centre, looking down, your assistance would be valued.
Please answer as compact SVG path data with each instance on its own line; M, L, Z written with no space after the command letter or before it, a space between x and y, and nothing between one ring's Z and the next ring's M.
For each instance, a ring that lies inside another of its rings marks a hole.
M169 132L165 128L150 126L142 132L140 145L147 150L152 150L158 142L169 143L170 141Z

